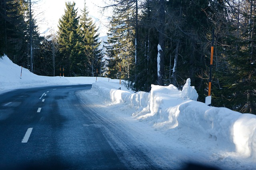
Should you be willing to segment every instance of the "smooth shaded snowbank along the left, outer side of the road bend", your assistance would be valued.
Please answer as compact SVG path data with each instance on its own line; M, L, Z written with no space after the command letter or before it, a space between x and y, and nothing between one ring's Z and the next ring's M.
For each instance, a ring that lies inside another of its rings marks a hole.
M49 77L38 76L28 69L18 66L6 56L0 57L0 93L17 88L29 88L36 86L92 84L96 77ZM108 78L98 77L97 80L119 82Z

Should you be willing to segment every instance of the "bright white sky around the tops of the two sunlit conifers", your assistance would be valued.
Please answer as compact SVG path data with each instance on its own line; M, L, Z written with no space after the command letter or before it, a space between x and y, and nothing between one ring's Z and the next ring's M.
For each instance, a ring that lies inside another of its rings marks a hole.
M65 2L75 2L76 8L78 8L78 14L80 10L84 8L84 0L41 0L38 4L34 5L34 10L37 11L38 26L40 27L40 33L43 33L48 28L54 28L54 31L58 30L58 20L64 15ZM87 10L89 16L99 27L100 37L105 36L108 29L107 12L102 14L102 6L104 6L104 0L86 0ZM100 7L99 7L100 6Z

